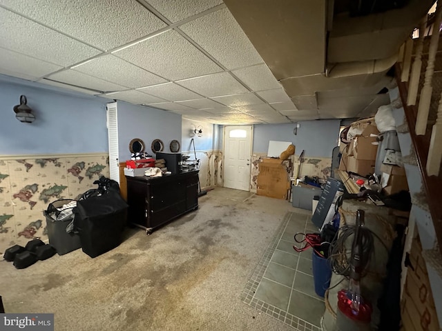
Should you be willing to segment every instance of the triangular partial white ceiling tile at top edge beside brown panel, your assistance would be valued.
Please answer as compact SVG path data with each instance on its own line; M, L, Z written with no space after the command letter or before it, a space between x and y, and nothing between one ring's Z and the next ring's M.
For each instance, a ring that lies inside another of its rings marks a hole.
M156 10L175 23L222 3L221 0L148 0Z

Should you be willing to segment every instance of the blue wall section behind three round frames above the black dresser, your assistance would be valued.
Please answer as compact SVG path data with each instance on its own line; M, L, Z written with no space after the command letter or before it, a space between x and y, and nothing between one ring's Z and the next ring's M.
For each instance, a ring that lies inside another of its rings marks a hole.
M156 108L136 106L124 101L118 101L118 153L119 161L131 159L129 143L134 138L140 138L146 145L145 151L151 150L154 139L164 143L163 152L171 152L169 146L173 139L181 143L181 115L166 112Z

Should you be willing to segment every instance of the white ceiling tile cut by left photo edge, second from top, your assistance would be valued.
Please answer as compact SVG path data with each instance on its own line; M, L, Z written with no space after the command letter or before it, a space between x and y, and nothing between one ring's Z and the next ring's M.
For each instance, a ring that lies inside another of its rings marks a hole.
M34 5L29 8L34 8ZM100 53L95 48L3 8L0 8L0 31L2 48L30 54L59 66L70 66Z

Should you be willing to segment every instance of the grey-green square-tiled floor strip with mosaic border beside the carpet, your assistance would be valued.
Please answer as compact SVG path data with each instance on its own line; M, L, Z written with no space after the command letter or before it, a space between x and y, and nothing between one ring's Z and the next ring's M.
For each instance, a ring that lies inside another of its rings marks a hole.
M293 249L296 232L314 232L311 215L287 213L242 292L242 301L300 331L319 331L324 299L314 290L311 250ZM299 244L296 244L299 245Z

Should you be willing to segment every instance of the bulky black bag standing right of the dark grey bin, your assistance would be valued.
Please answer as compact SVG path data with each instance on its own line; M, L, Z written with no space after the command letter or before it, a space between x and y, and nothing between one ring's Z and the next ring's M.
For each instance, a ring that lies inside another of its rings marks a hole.
M81 249L90 257L113 250L122 242L128 205L117 190L79 200L74 208Z

